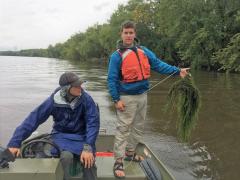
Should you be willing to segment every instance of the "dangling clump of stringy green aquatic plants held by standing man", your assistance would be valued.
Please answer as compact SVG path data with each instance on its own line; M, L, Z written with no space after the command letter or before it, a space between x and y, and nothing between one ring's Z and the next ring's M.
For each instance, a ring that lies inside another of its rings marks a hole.
M187 75L170 87L166 110L177 109L177 133L181 141L188 141L194 129L200 108L200 93L191 75Z

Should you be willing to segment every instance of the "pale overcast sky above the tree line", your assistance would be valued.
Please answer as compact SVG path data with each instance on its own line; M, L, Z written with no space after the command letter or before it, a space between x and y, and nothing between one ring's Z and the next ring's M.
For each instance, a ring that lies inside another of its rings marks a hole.
M47 48L110 19L128 0L0 0L0 50Z

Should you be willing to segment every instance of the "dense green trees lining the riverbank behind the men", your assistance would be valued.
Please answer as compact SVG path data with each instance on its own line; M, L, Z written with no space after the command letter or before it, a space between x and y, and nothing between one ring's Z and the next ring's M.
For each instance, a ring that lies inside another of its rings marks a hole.
M239 0L129 0L107 23L95 24L64 43L0 55L102 61L115 50L124 20L135 21L141 44L172 65L240 72Z

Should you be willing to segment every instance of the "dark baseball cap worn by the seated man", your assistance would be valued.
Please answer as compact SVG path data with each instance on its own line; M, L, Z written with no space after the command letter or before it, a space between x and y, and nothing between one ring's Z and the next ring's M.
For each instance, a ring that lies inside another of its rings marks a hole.
M78 75L73 72L65 72L59 78L60 86L71 85L74 87L78 87L78 86L81 86L82 83L83 81L81 81Z

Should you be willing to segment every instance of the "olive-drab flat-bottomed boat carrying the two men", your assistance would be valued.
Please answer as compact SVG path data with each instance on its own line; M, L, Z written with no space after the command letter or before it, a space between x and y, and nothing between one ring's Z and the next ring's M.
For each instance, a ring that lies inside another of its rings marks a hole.
M113 175L113 135L99 135L96 147L96 165L97 176L100 180L115 179ZM174 177L167 170L164 164L157 158L151 149L144 143L139 143L136 151L144 157L144 163L136 163L133 161L124 161L124 168L126 173L125 180L143 180L149 179L144 171L147 162L150 161L151 166L147 167L158 175L158 180L174 180ZM147 160L147 161L146 161ZM146 161L146 162L145 162ZM147 165L148 166L148 165ZM79 166L78 166L79 167ZM71 180L82 179L82 172L76 170L72 175ZM160 174L160 176L159 176ZM18 158L13 163L9 163L9 168L0 169L0 180L62 180L63 169L59 158Z

